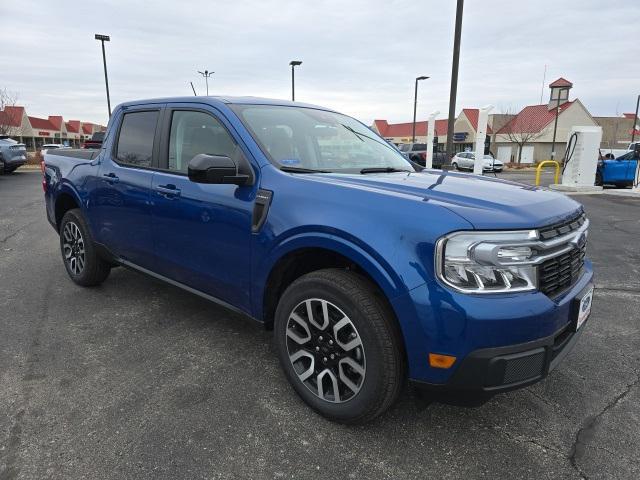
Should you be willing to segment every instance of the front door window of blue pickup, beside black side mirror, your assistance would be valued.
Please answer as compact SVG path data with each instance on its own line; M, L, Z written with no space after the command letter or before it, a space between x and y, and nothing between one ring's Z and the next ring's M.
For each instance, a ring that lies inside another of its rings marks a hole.
M236 144L224 126L203 112L176 111L171 118L169 170L187 173L189 161L201 153L233 156Z

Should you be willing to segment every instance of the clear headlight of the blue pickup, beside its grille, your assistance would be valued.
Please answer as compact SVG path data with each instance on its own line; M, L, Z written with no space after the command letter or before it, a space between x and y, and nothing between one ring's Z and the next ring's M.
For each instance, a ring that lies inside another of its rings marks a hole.
M535 230L456 232L436 244L436 272L441 281L464 293L535 290L537 269L530 247Z

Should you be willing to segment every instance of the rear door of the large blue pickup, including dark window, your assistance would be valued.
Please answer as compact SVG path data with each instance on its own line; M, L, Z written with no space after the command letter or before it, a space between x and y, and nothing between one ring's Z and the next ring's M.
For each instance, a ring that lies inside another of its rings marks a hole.
M157 166L156 129L162 106L128 107L103 154L91 219L98 242L123 260L153 268L151 181Z

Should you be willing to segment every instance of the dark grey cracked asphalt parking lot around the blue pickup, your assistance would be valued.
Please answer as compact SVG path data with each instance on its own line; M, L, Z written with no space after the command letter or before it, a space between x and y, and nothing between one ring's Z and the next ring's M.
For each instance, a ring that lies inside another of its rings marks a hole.
M640 199L575 198L597 290L545 381L478 408L406 391L345 427L261 327L124 268L75 286L39 174L0 176L0 479L640 478Z

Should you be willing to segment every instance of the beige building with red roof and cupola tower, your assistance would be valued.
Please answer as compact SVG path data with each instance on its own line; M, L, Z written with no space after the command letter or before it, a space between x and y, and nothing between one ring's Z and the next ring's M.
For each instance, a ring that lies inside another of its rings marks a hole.
M534 163L550 159L556 115L556 160L564 156L572 127L597 126L580 100L569 100L572 86L570 81L562 77L551 82L549 103L524 107L497 129L492 147L498 160L505 163Z

